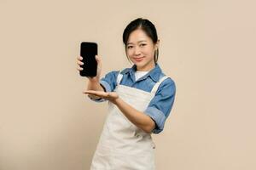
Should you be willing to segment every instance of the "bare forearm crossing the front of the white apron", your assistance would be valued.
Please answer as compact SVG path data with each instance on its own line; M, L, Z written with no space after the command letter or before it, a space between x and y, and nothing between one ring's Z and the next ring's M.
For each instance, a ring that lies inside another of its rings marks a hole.
M150 116L145 115L141 111L137 111L120 98L115 99L113 103L117 105L119 110L137 127L141 128L146 133L152 132L155 125Z

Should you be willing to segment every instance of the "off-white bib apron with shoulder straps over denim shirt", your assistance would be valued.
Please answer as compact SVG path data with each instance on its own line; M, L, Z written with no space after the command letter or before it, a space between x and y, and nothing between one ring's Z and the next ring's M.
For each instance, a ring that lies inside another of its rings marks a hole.
M145 111L154 94L167 77L156 82L151 92L120 85L119 73L114 91L137 111ZM108 101L108 117L104 123L90 170L154 170L154 142L126 118L116 105Z

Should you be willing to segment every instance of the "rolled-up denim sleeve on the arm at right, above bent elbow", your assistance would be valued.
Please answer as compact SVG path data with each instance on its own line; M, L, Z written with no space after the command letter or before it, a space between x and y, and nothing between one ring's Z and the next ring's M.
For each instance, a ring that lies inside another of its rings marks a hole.
M160 84L154 98L150 101L145 114L155 122L152 133L160 133L165 126L166 118L170 115L176 94L176 85L171 78Z

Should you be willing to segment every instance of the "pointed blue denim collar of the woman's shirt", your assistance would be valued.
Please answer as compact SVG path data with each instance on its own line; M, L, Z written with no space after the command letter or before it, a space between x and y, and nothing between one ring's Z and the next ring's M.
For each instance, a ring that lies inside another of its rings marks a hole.
M135 71L137 71L137 66L132 65L130 69L125 69L122 71L123 73L130 73L131 77L134 77ZM160 79L160 74L162 73L162 70L160 69L160 65L158 63L155 64L154 68L151 69L145 76L142 77L141 80L146 79L147 77L151 77L154 82L158 82Z

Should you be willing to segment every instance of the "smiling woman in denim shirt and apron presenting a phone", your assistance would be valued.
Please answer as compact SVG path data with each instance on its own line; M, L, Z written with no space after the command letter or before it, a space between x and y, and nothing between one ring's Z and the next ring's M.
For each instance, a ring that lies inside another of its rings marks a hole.
M97 76L87 77L88 94L108 100L108 117L90 166L94 169L155 169L151 133L160 133L169 116L176 86L157 63L159 40L149 20L138 18L123 33L131 68L110 71L100 79L102 60L96 55ZM78 57L78 70L82 57Z

